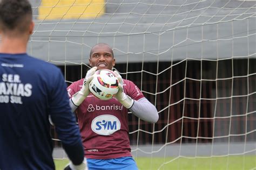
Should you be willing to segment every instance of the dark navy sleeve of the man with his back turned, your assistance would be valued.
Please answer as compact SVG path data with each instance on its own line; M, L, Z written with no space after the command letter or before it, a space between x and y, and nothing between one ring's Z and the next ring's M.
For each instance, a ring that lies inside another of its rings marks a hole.
M60 70L53 75L51 82L50 116L55 124L58 138L73 164L83 162L84 150L76 118L69 105L66 83Z

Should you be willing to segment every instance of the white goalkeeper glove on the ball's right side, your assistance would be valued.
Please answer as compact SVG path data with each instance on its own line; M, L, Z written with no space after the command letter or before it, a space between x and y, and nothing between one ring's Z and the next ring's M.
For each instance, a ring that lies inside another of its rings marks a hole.
M116 70L114 70L114 73L117 75L117 78L119 81L118 83L119 90L118 90L118 93L116 94L116 98L121 104L124 105L125 108L130 109L134 103L134 100L130 96L124 93L124 87L123 87L124 81L122 79L122 76Z

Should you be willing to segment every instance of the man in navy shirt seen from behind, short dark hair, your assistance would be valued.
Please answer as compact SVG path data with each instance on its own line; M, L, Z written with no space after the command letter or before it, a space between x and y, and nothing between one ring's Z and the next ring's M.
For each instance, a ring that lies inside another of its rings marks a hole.
M55 169L49 116L71 169L86 169L60 70L26 54L33 32L28 0L0 1L0 169Z

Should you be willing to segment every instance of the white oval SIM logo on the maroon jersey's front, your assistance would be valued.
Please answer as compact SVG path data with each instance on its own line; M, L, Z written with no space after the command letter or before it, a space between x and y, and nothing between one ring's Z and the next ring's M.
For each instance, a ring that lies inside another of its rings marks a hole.
M108 136L120 130L121 123L116 116L113 115L100 115L93 119L91 129L93 132Z

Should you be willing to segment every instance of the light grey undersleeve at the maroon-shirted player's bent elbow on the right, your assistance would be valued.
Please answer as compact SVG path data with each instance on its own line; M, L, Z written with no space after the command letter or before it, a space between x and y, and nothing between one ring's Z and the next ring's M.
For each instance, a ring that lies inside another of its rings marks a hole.
M133 115L146 122L156 123L159 118L156 107L146 98L140 98L140 100L134 101L134 104L129 110Z

